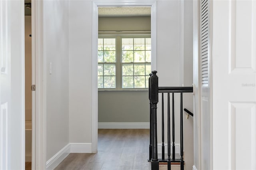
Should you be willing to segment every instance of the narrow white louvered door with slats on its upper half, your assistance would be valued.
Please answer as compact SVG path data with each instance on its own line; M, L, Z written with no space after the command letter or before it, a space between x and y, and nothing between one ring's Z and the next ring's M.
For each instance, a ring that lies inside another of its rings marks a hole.
M201 168L210 169L210 1L200 1L200 75L201 75Z

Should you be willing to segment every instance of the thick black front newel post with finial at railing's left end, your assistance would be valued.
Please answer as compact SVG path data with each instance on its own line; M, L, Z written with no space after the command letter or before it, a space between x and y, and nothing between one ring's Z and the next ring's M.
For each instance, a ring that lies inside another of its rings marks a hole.
M153 111L153 154L151 160L151 170L159 170L159 161L157 156L157 123L156 123L156 109L158 103L158 77L157 71L152 71L153 75L150 77L150 101Z

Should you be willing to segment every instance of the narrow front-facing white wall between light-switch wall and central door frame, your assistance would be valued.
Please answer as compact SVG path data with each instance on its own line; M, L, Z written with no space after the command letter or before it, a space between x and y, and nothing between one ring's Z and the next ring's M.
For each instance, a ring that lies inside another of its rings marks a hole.
M70 142L92 142L92 1L69 3Z

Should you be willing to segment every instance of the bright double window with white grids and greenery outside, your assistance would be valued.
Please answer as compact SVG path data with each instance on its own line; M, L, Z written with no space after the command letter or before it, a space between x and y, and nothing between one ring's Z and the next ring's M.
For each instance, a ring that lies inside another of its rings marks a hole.
M145 89L151 72L151 38L116 36L98 39L98 88Z

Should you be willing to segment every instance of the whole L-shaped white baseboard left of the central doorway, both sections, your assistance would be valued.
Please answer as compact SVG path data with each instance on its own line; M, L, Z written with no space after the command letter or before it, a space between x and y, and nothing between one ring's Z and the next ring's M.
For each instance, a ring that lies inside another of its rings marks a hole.
M53 170L70 153L92 153L92 143L69 143L46 162L46 170Z

